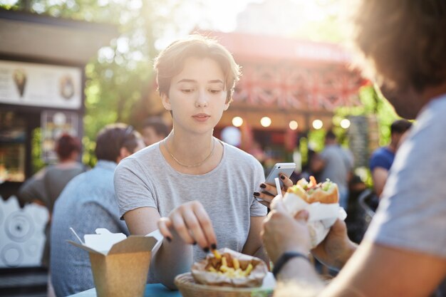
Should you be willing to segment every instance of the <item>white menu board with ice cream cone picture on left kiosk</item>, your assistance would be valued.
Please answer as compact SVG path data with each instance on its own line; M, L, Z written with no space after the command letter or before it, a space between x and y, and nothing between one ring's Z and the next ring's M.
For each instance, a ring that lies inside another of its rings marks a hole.
M82 68L0 60L0 103L78 109Z

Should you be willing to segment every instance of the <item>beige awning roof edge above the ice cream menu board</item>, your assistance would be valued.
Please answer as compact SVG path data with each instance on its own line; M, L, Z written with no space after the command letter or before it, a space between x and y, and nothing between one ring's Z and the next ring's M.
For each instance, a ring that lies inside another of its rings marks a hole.
M0 9L0 56L85 65L118 36L110 24Z

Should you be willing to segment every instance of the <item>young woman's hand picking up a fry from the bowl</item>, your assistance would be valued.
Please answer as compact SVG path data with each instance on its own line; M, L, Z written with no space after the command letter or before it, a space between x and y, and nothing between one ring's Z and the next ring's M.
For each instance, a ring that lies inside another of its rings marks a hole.
M217 237L211 219L198 201L175 207L168 217L158 221L158 228L167 241L174 237L172 230L187 244L198 244L204 251L217 248Z

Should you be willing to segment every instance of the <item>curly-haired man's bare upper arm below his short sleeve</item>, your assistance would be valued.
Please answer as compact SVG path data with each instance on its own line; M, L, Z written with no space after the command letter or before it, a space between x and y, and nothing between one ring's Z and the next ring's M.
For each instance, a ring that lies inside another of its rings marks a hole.
M320 296L429 296L446 276L446 259L365 241Z

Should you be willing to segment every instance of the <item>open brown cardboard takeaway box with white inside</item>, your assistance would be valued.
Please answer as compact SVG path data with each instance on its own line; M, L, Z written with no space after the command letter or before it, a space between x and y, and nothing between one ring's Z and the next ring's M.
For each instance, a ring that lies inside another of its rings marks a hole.
M95 231L97 234L85 234L84 241L73 231L81 244L68 242L90 254L98 297L144 296L150 256L157 244L157 236L127 237L122 233L110 233L105 228Z

